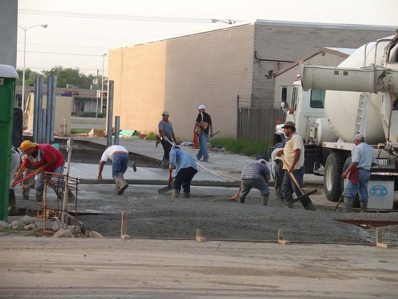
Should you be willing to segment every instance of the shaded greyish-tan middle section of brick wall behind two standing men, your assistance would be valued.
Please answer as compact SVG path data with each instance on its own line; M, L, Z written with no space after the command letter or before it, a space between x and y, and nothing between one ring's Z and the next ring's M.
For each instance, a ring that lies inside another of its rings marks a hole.
M254 25L167 42L165 109L177 137L192 141L197 107L217 137L236 136L236 96L250 94Z

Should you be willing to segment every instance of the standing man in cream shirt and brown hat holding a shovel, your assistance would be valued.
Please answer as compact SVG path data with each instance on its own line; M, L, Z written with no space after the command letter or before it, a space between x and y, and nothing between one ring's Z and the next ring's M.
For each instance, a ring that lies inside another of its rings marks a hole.
M281 191L285 199L285 203L289 208L293 208L293 192L296 195L301 196L300 190L296 186L295 182L290 173L293 173L296 178L298 185L302 187L302 181L304 176L304 143L302 138L296 132L296 124L291 121L285 122L284 126L285 136L288 138L285 147L276 152L276 156L281 157L283 155L286 164L283 165L285 169ZM303 204L306 210L315 211L315 207L309 197L306 197L308 203Z

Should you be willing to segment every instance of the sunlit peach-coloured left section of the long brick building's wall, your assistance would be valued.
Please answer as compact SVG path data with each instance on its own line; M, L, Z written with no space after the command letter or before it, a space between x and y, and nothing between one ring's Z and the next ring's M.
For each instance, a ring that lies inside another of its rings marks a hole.
M164 110L165 65L166 41L109 52L113 116L120 116L120 129L157 132Z

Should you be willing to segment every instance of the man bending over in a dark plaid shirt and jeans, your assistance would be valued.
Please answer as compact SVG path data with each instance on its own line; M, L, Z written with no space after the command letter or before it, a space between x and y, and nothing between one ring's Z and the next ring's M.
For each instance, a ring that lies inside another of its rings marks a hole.
M270 169L266 166L265 159L259 159L258 161L251 162L243 168L241 191L239 194L239 202L245 203L245 198L249 194L252 187L260 190L261 192L261 204L268 204L268 197L270 190L267 182L270 180Z

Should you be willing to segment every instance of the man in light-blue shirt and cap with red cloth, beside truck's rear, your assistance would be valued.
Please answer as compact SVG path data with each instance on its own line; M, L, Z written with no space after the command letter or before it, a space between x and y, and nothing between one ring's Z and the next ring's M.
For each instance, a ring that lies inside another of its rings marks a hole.
M365 136L355 135L354 144L355 148L351 151L351 164L342 174L342 178L348 176L347 186L344 190L343 212L351 210L357 192L361 201L361 212L367 212L370 168L376 166L377 163L372 147L365 142Z

